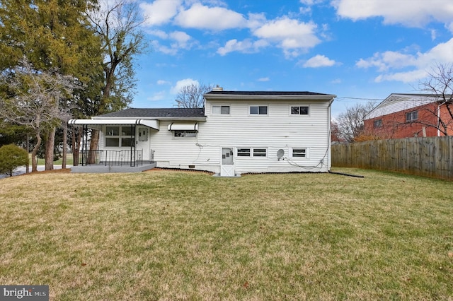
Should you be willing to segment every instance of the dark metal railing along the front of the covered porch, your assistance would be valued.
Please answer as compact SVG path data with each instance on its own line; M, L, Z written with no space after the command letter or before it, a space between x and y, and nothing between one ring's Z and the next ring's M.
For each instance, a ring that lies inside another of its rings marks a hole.
M139 166L143 165L143 150L96 150L80 151L79 164L105 166Z

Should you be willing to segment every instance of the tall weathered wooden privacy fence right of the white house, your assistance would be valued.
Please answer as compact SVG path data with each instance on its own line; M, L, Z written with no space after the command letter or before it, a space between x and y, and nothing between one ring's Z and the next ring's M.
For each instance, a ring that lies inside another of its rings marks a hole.
M453 179L453 136L336 144L332 166Z

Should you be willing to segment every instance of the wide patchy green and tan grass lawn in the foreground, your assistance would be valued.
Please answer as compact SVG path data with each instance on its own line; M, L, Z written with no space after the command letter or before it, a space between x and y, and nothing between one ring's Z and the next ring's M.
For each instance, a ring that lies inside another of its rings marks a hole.
M452 300L453 183L371 170L0 179L0 283L50 300Z

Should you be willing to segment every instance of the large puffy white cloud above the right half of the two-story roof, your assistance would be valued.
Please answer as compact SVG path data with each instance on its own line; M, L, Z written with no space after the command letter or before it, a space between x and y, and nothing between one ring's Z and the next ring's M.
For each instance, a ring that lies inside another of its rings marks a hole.
M271 20L253 31L262 39L277 42L287 57L296 57L300 50L306 51L318 45L321 40L316 37L315 23L304 23L287 17Z

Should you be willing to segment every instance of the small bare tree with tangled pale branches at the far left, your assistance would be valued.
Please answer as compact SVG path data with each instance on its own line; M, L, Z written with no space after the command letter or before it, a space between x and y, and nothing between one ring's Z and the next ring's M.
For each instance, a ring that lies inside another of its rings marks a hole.
M41 136L59 126L65 116L59 101L70 97L72 78L55 71L37 72L25 59L19 64L13 72L0 74L0 82L6 89L0 97L0 117L33 130L36 144L32 151L32 172L35 172Z

